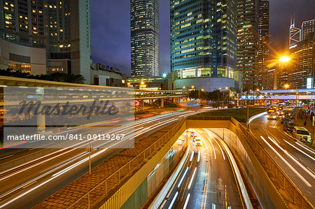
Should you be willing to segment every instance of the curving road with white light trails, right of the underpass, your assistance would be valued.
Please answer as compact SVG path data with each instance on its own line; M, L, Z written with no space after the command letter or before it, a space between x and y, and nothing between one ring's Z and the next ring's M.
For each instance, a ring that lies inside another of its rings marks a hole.
M265 115L255 117L250 131L292 180L302 194L315 206L315 151L295 140Z

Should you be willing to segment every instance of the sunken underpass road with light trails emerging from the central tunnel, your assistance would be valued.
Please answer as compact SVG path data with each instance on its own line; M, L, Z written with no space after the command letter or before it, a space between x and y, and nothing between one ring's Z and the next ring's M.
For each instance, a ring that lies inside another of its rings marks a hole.
M244 183L237 180L224 142L209 129L194 131L202 146L190 141L190 153L161 208L246 208Z

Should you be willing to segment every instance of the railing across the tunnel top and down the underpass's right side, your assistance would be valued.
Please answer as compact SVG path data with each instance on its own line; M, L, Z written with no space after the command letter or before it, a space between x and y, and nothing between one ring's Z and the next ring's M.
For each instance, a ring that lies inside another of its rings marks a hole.
M272 180L272 183L276 185L277 188L281 188L288 193L288 195L283 196L284 201L286 201L286 203L294 203L297 208L314 208L314 206L312 206L307 198L302 194L300 189L298 189L292 180L290 180L288 175L283 172L276 161L274 161L267 151L265 151L265 149L258 143L255 136L253 136L246 127L235 120L234 117L190 116L187 117L187 120L230 120L230 122L237 127L239 133L246 138L248 145L260 161L262 168L264 168L264 170L268 173L269 178L274 179Z

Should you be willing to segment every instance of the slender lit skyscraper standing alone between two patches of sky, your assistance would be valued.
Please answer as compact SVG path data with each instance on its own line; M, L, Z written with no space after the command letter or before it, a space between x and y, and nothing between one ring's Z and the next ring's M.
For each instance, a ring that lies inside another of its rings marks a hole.
M131 74L153 77L160 73L159 1L130 0Z

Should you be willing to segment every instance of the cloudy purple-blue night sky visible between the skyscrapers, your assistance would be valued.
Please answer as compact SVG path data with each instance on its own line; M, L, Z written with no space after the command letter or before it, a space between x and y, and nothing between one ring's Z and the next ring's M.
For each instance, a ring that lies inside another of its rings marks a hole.
M315 19L315 0L269 0L270 52L281 55L288 45L290 16L295 27ZM130 0L92 0L92 61L116 67L130 76ZM169 0L160 0L160 73L169 72Z

